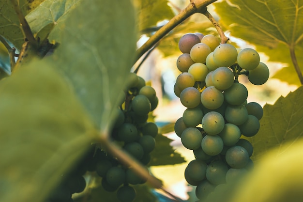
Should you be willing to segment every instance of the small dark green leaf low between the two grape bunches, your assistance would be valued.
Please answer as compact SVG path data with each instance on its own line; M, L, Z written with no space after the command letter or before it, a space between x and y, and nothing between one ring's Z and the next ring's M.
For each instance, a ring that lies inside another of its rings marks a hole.
M186 162L184 158L170 146L171 139L158 134L155 137L156 147L151 152L151 161L148 166L174 165Z

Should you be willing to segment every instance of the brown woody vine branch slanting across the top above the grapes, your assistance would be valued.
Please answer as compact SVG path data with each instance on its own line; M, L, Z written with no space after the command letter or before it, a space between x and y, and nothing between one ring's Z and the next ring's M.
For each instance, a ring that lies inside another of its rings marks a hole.
M217 0L191 0L190 3L183 9L178 15L171 18L167 24L161 27L158 31L153 34L149 40L145 42L141 47L136 51L136 59L138 61L144 53L146 53L150 48L152 48L157 42L160 41L169 31L173 30L180 23L182 23L189 16L192 16L195 13L204 13L206 6L215 2Z

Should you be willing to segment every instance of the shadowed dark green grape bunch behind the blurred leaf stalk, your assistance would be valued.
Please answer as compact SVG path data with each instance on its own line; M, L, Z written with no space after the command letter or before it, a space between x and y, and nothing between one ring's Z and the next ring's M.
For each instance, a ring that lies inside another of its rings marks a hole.
M128 85L122 94L125 96L121 98L110 137L143 165L147 165L151 160L150 153L155 148L154 138L158 134L157 125L148 122L148 118L149 112L158 105L158 97L155 90L135 73L129 74ZM80 193L86 187L84 176L87 171L101 177L103 189L116 192L120 202L132 202L136 197L132 185L146 182L132 167L122 165L119 159L92 144L89 152L74 166L74 171L62 175L61 184L45 202L73 202L72 194Z

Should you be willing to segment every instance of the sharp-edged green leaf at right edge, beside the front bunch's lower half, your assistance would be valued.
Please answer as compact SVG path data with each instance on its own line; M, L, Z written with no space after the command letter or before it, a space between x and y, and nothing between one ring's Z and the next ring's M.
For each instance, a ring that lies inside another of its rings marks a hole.
M248 140L254 146L253 158L258 160L269 149L278 147L276 155L287 151L286 143L295 143L303 136L303 86L280 97L274 105L264 106L258 134Z

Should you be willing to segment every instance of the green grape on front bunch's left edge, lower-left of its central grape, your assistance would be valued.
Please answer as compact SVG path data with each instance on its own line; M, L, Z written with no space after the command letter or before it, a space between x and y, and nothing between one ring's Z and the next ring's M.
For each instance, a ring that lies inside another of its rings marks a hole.
M191 150L198 149L201 146L202 138L201 132L194 127L186 128L181 134L183 146Z

